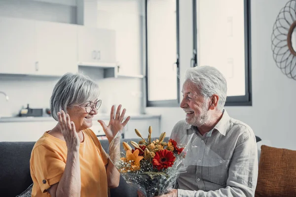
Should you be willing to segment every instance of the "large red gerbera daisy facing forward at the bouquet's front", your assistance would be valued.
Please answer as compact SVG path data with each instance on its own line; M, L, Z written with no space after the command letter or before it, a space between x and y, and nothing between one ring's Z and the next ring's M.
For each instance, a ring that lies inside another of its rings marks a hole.
M156 167L158 170L167 169L168 167L172 167L175 160L176 157L173 152L163 149L155 153L155 156L152 159L152 164L153 167Z

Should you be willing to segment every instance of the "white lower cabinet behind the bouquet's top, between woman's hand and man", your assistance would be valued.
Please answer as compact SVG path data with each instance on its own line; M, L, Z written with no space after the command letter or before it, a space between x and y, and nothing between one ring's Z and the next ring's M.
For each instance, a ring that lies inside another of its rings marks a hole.
M148 137L149 126L152 128L152 137L159 137L160 135L160 118L147 118L147 119L130 119L130 121L125 126L124 138L140 138L135 129L141 132L144 138Z

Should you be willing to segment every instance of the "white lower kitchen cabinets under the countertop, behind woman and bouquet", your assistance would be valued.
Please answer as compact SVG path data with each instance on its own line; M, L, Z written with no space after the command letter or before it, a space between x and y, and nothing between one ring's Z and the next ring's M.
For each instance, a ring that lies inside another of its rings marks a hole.
M43 118L47 119L45 117ZM45 131L49 131L57 125L57 121L50 117L48 117L47 121L36 121L36 119L38 117L32 118L32 121L0 122L0 141L37 141ZM103 120L106 125L109 124L110 119L107 115L98 115L94 118L93 126L90 129L98 136L105 135L101 124L97 122L98 119ZM124 127L124 138L140 138L136 135L135 129L139 130L143 137L147 138L149 126L152 127L151 136L159 137L161 133L160 116L132 116L128 124Z

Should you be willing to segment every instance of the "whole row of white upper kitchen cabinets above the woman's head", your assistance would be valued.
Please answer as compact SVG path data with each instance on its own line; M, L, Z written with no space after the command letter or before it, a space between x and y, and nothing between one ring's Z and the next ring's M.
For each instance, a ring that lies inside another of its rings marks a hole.
M78 65L116 77L115 31L0 17L0 74L62 76Z

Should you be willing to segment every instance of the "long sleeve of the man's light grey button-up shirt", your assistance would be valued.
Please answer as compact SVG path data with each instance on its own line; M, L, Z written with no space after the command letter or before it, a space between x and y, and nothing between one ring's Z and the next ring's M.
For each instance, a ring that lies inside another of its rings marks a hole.
M178 197L254 197L258 177L257 144L255 136L242 134L229 164L226 187L216 191L178 189Z

